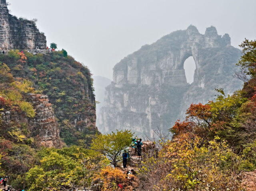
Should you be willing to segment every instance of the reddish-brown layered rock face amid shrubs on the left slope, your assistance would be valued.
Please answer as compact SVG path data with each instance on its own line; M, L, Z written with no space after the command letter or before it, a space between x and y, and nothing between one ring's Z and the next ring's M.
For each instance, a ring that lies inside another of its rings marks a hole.
M24 113L13 111L10 108L10 111L0 113L2 125L8 128L8 126L15 126L16 123L26 124L28 127L27 136L35 139L36 146L60 148L60 129L56 123L48 96L28 94L26 101L34 107L35 117L27 117Z

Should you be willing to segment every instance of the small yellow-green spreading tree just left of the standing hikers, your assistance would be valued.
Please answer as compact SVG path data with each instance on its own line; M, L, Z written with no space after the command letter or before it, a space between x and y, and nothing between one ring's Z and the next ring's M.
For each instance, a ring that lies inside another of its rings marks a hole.
M130 130L112 132L106 135L96 135L92 139L91 148L110 159L110 163L116 167L121 161L120 154L131 142L133 133Z

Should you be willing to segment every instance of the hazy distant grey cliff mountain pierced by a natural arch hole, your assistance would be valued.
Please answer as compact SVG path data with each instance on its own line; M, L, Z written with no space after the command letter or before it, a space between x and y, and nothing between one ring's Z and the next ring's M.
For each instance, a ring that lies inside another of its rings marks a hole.
M185 60L196 64L194 82L188 84ZM242 83L232 77L240 50L230 46L228 34L220 36L209 27L179 30L130 54L114 67L113 82L106 88L99 129L132 129L150 135L152 129L167 130L183 116L192 102L214 98L214 88L232 93Z

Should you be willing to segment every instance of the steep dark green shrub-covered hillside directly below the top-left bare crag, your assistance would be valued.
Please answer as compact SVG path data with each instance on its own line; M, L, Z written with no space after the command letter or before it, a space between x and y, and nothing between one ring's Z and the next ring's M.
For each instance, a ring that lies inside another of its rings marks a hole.
M90 70L63 51L32 55L20 63L18 50L0 56L15 78L33 83L36 92L49 97L57 117L60 136L67 145L88 145L96 128L95 97Z

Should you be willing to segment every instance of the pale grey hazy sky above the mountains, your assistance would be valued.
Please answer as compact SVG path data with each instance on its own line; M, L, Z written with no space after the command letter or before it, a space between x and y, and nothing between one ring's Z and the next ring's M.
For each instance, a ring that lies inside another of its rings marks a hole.
M48 44L112 79L122 58L190 24L215 26L232 46L256 39L256 0L7 0L11 14L37 18Z

